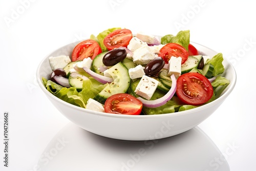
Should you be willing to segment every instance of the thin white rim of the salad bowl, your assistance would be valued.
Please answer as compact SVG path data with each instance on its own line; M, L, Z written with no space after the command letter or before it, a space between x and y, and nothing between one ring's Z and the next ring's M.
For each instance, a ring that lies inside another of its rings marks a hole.
M76 41L76 42L80 42L82 40L79 40L79 41ZM55 101L57 101L58 103L62 103L63 105L67 105L75 110L79 110L80 112L84 112L85 114L94 114L94 115L100 115L100 116L105 116L105 117L116 117L116 118L130 118L130 119L134 119L134 118L139 118L139 119L143 119L143 118L154 118L154 117L173 117L173 116L176 116L176 115L187 115L187 114L191 114L191 113L196 113L197 111L201 111L205 108L208 108L209 106L212 106L212 105L216 105L218 104L220 101L223 101L225 100L225 98L232 92L232 90L234 89L234 86L236 85L236 81L237 81L237 74L236 74L236 70L234 69L234 67L232 66L231 62L225 58L224 60L228 63L229 67L231 68L231 70L233 71L232 72L232 81L230 81L229 85L226 87L226 91L220 96L218 97L216 100L214 101L211 101L207 104L204 104L202 106L199 106L197 108L194 108L194 109L189 109L189 110L186 110L186 111L181 111L181 112L174 112L174 113L165 113L165 114L157 114L157 115L122 115L122 114L111 114L111 113L105 113L105 112L97 112L97 111L93 111L93 110L88 110L88 109L85 109L85 108L81 108L79 106L76 106L74 104L70 104L64 100L61 100L59 99L58 97L54 96L52 93L50 93L45 87L44 87L44 84L42 83L42 78L40 76L40 68L42 66L42 64L46 61L47 58L50 57L50 54L54 53L55 51L65 47L65 46L69 46L69 45L75 45L76 42L71 42L70 44L67 44L67 45L64 45L54 51L52 51L51 53L49 53L48 55L46 55L39 63L38 67L37 67L37 70L36 70L36 79L37 79L37 82L38 82L38 85L40 87L40 89L46 94L48 95L49 97L53 98ZM214 53L217 54L217 52L215 50L212 50L206 46L203 46L201 44L198 44L196 42L193 42L193 41L190 41L191 44L193 45L198 45L198 46L201 46L203 48L206 48Z

